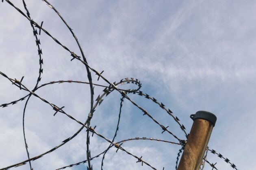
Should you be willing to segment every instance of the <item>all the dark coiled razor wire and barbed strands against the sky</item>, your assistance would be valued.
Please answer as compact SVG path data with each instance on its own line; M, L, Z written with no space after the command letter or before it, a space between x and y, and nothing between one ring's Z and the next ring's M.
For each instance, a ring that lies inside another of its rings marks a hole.
M46 4L52 9L54 10L54 12L60 17L60 19L63 21L63 23L65 23L65 26L69 29L70 33L72 34L72 36L74 37L74 39L76 40L76 43L78 45L78 48L80 50L80 53L82 55L82 57L78 56L75 52L73 52L72 50L70 50L69 48L67 48L65 45L63 45L59 40L57 40L54 36L52 36L52 34L50 34L46 29L43 28L43 21L41 22L41 24L39 25L37 22L33 21L33 19L30 16L30 13L28 11L28 8L26 6L25 0L22 0L23 5L24 5L24 9L26 11L26 14L22 12L22 10L20 10L20 8L17 8L17 6L15 6L10 0L2 0L2 2L7 2L9 5L13 6L13 8L15 8L22 16L24 16L26 19L28 19L28 21L30 22L32 31L33 31L33 35L35 37L35 41L36 41L36 46L37 46L37 51L38 51L38 55L39 55L39 74L37 77L37 81L35 83L35 86L33 87L33 89L28 89L24 83L22 82L24 77L22 77L22 79L18 80L18 79L13 79L10 78L7 74L3 73L0 71L0 74L7 78L13 85L15 85L17 88L19 88L20 90L24 90L27 91L28 94L20 99L17 100L13 100L12 102L7 102L5 104L0 104L0 107L4 108L13 104L16 104L17 102L20 102L22 100L26 99L26 102L24 104L24 110L23 110L23 136L24 136L24 143L25 143L25 148L26 148L26 153L27 153L27 157L28 159L21 161L19 163L15 163L13 165L7 166L5 168L0 168L0 170L7 170L9 168L13 168L13 167L18 167L18 166L23 166L25 164L29 164L30 166L30 170L33 170L33 166L32 166L32 161L35 161L37 159L40 159L41 157L43 157L44 155L48 154L48 153L52 153L53 151L55 151L56 149L60 148L61 146L63 146L64 144L66 144L67 142L69 142L70 140L72 140L73 138L75 138L84 128L87 131L87 137L86 137L86 155L87 155L87 159L74 163L74 164L70 164L68 166L63 166L61 168L58 168L56 170L61 170L61 169L65 169L68 167L73 167L73 166L78 166L80 164L85 164L87 163L87 170L93 170L93 165L91 164L91 160L96 159L98 157L100 157L102 155L102 161L101 161L101 169L103 170L103 165L104 165L104 159L106 156L106 153L109 151L109 149L111 149L112 147L115 147L117 150L121 150L124 151L126 154L131 155L132 157L135 157L135 159L137 160L137 163L141 162L141 165L143 166L143 164L147 165L148 167L156 170L156 168L154 166L152 166L151 164L149 164L147 161L142 159L142 156L137 156L134 155L133 153L131 153L130 151L124 149L123 144L125 142L128 141L132 141L132 140L149 140L149 141L158 141L158 142L165 142L165 143L170 143L170 144L176 144L179 145L181 148L178 151L178 155L177 155L177 159L176 159L176 169L178 166L178 162L179 162L179 157L182 153L182 151L184 150L185 144L187 142L187 138L188 138L188 134L186 132L186 128L184 127L184 125L182 123L180 123L180 119L178 119L178 117L176 115L174 115L174 113L169 109L166 108L165 105L162 102L158 102L154 97L143 93L142 91L140 91L141 89L141 82L138 79L134 79L134 78L125 78L125 79L121 79L120 81L113 82L111 83L110 81L108 81L105 77L102 76L102 73L104 71L98 72L97 70L93 69L91 66L89 66L89 64L87 63L86 57L84 55L84 52L80 46L80 43L78 41L78 38L76 38L76 35L74 34L73 30L71 29L71 27L67 24L67 22L63 19L63 17L60 15L60 13L56 10L56 8L54 8L54 6L52 6L52 4L50 4L50 2L48 2L47 0L42 0L43 2L46 2ZM63 47L66 51L68 51L72 57L72 60L78 60L80 63L82 63L85 68L86 68L86 72L87 72L87 78L89 82L84 82L84 81L73 81L73 80L59 80L59 81L51 81L49 83L44 83L39 85L40 81L41 81L41 77L43 74L43 58L42 58L42 49L40 47L41 43L39 40L39 35L41 35L41 32L44 32L45 34L47 34L48 36L50 36L57 44L59 44L61 47ZM105 83L107 83L108 85L100 85L97 83L93 83L92 80L92 76L91 76L91 72L94 72L97 76L98 79L97 81L99 81L99 79L102 79ZM41 96L39 96L36 91L40 88L43 88L45 86L48 85L53 85L56 83L77 83L77 84L88 84L90 87L90 112L88 113L88 117L85 120L84 123L82 123L81 121L79 121L78 119L76 119L75 117L72 117L70 114L66 113L64 111L65 106L57 106L56 104L53 104L51 102L49 102L48 100L42 98ZM119 86L124 85L124 84L135 84L137 85L137 89L121 89L119 88ZM94 103L94 87L104 87L103 89L103 93L98 95L98 97L95 99L95 103ZM121 94L121 101L120 101L120 107L119 107L119 115L118 115L118 121L117 121L117 126L115 128L115 134L112 137L112 139L108 139L105 136L103 136L102 134L100 134L99 132L95 131L95 128L97 127L96 125L94 127L92 127L91 124L91 119L93 118L93 114L95 113L95 110L97 108L97 106L100 106L100 104L103 102L104 98L106 98L108 96L108 94L110 94L112 91L117 91L119 92L119 94ZM178 138L173 132L171 132L170 130L168 130L167 128L169 126L167 125L163 125L161 124L159 121L157 121L152 115L150 115L150 113L145 110L144 108L142 108L141 106L139 106L136 102L134 102L133 100L131 100L130 97L128 97L128 94L137 94L138 96L142 96L148 100L150 100L151 102L154 102L155 104L157 104L160 108L162 108L163 110L166 111L167 115L171 116L174 121L178 124L178 126L180 127L180 129L182 130L182 132L184 133L185 138L184 139L180 139ZM48 105L50 105L52 107L52 109L55 111L53 116L55 116L57 113L62 113L64 115L66 115L67 117L69 117L70 119L76 121L76 123L80 124L81 127L80 129L77 130L77 132L75 132L72 136L70 136L69 138L66 138L65 140L63 140L61 142L61 144L53 147L52 149L41 153L40 155L37 155L35 157L30 158L30 154L29 154L29 149L28 149L28 143L26 141L26 133L25 133L25 124L24 124L24 120L25 120L25 113L26 113L26 107L28 105L28 101L30 100L31 96L35 96L37 98L39 98L42 102L47 103ZM177 142L171 142L171 141L167 141L167 140L161 140L161 139L155 139L155 138L147 138L147 137L136 137L136 138L129 138L129 139L125 139L125 140L121 140L119 142L115 142L115 138L117 137L117 132L119 130L119 124L120 124L120 118L121 118L121 110L122 110L122 106L123 106L123 102L124 100L128 100L130 103L132 103L133 105L135 105L139 110L142 111L143 115L148 116L154 123L156 123L162 130L162 134L164 132L167 132L168 134L170 134L175 140L177 140ZM91 137L93 137L93 135L96 135L102 139L104 139L106 142L109 143L108 147L106 149L104 149L104 151L102 151L101 153L95 154L95 156L91 157L91 150L90 150L90 135ZM208 152L210 151L210 152ZM207 153L213 153L215 155L217 155L218 157L220 157L221 159L223 159L226 163L230 164L230 166L234 169L237 170L236 166L234 164L232 164L230 162L230 160L228 158L224 158L223 155L221 155L220 153L217 153L215 150L213 149L208 149L206 150L206 154L204 156L203 162L202 162L202 167L201 169L204 169L204 164L205 162L208 163L213 169L217 168L215 167L215 164L210 163L207 160ZM164 170L164 168L163 168Z

